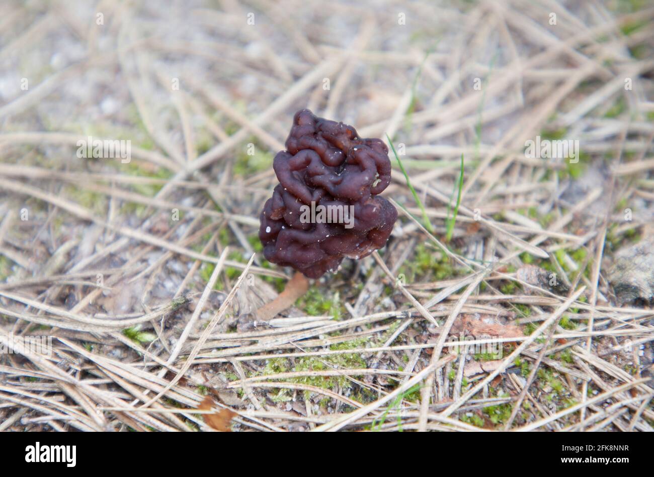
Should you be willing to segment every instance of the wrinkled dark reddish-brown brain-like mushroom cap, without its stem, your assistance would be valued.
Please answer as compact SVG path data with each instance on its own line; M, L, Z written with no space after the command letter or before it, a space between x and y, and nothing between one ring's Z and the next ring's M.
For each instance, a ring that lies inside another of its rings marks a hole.
M273 169L279 185L259 228L269 262L318 278L345 256L363 258L386 245L398 213L377 195L390 183L381 140L301 110Z

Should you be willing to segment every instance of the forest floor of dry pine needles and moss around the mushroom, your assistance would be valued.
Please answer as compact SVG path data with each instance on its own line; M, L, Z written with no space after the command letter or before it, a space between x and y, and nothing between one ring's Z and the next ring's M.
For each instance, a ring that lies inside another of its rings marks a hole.
M328 5L0 4L0 431L654 430L654 8ZM399 219L255 325L301 108Z

